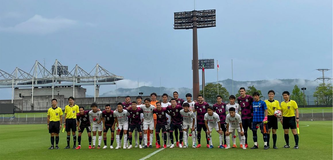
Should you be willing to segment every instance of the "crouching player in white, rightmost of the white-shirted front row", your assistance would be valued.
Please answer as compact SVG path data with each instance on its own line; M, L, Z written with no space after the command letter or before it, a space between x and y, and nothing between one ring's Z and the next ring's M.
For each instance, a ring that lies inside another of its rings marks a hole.
M239 142L242 144L242 148L246 149L245 147L245 136L244 136L244 130L242 126L242 119L239 114L235 112L235 108L230 107L229 108L229 114L227 115L225 119L225 123L227 124L227 132L225 132L226 135L226 141L227 141L227 147L225 149L230 148L230 133L237 130L238 134L241 136L238 136Z

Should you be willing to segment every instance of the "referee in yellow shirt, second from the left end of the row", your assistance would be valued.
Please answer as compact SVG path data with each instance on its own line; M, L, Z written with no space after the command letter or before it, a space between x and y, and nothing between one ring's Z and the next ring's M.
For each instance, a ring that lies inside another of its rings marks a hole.
M69 105L65 107L65 122L64 122L64 127L67 132L67 146L65 149L71 148L69 146L69 142L71 140L71 130L72 130L72 135L73 135L73 149L76 148L76 114L79 113L79 106L74 104L74 97L70 96L68 98Z

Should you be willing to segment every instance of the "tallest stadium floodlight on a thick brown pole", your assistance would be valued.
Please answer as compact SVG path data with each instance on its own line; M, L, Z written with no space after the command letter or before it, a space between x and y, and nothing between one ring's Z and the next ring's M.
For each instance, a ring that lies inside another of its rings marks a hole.
M198 38L197 28L216 27L216 11L185 11L174 12L173 29L193 30L193 100L197 100L199 94L199 64L198 64ZM202 65L201 65L202 66Z

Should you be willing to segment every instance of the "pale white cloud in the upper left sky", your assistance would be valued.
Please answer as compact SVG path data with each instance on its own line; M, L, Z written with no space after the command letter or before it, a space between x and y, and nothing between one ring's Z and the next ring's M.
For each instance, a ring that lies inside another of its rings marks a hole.
M49 34L76 24L76 21L66 18L56 17L48 19L40 15L35 15L14 27L2 27L1 30L14 33Z

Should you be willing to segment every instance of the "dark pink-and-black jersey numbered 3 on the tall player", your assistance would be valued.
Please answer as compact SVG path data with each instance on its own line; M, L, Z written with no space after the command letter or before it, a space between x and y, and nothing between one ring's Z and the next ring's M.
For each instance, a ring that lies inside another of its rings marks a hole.
M242 119L252 118L253 117L253 108L252 108L253 98L252 98L252 96L246 95L244 98L239 96L237 98L237 102L240 107Z

